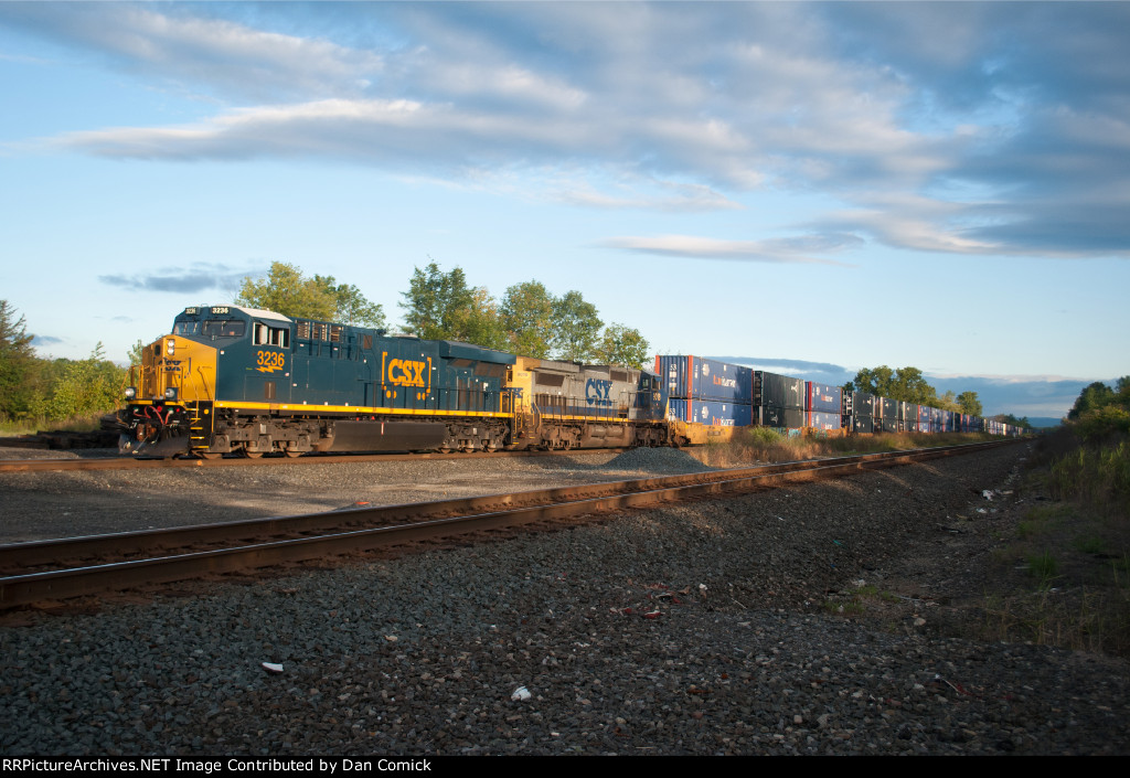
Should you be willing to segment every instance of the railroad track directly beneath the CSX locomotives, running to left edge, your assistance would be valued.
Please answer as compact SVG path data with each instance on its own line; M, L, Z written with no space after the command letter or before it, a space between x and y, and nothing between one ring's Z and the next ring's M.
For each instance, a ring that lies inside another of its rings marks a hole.
M3 459L0 473L36 473L44 470L128 470L177 467L257 467L270 465L330 465L368 461L418 461L420 459L492 459L504 457L559 457L579 453L621 453L629 449L562 449L553 451L471 451L452 453L318 453L306 457L268 456L257 459L225 457L223 459L133 459L130 457L95 457L90 459Z

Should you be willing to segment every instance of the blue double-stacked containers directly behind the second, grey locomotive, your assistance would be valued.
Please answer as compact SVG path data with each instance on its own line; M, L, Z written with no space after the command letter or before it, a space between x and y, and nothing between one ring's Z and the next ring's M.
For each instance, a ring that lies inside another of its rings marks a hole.
M659 355L655 372L667 387L668 417L710 426L749 426L753 370L701 356Z

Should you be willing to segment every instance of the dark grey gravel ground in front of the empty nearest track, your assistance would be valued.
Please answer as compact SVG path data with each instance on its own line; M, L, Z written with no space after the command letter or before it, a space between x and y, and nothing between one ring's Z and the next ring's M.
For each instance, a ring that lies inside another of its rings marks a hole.
M909 580L1020 453L8 616L0 751L1127 753L1125 663L947 637L919 590L827 607Z

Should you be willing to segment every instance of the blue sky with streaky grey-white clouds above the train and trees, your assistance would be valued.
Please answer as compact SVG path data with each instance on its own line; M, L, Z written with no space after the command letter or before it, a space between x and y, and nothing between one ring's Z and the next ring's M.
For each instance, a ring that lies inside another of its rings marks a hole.
M654 353L1130 374L1130 3L0 1L0 299L124 362L272 261L580 291Z

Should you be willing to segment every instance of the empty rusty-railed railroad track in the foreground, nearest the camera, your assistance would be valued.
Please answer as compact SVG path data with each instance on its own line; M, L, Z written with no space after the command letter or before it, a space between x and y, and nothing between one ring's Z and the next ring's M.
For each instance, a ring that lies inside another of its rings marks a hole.
M1012 441L0 546L0 608L842 477ZM466 456L466 455L464 455Z

